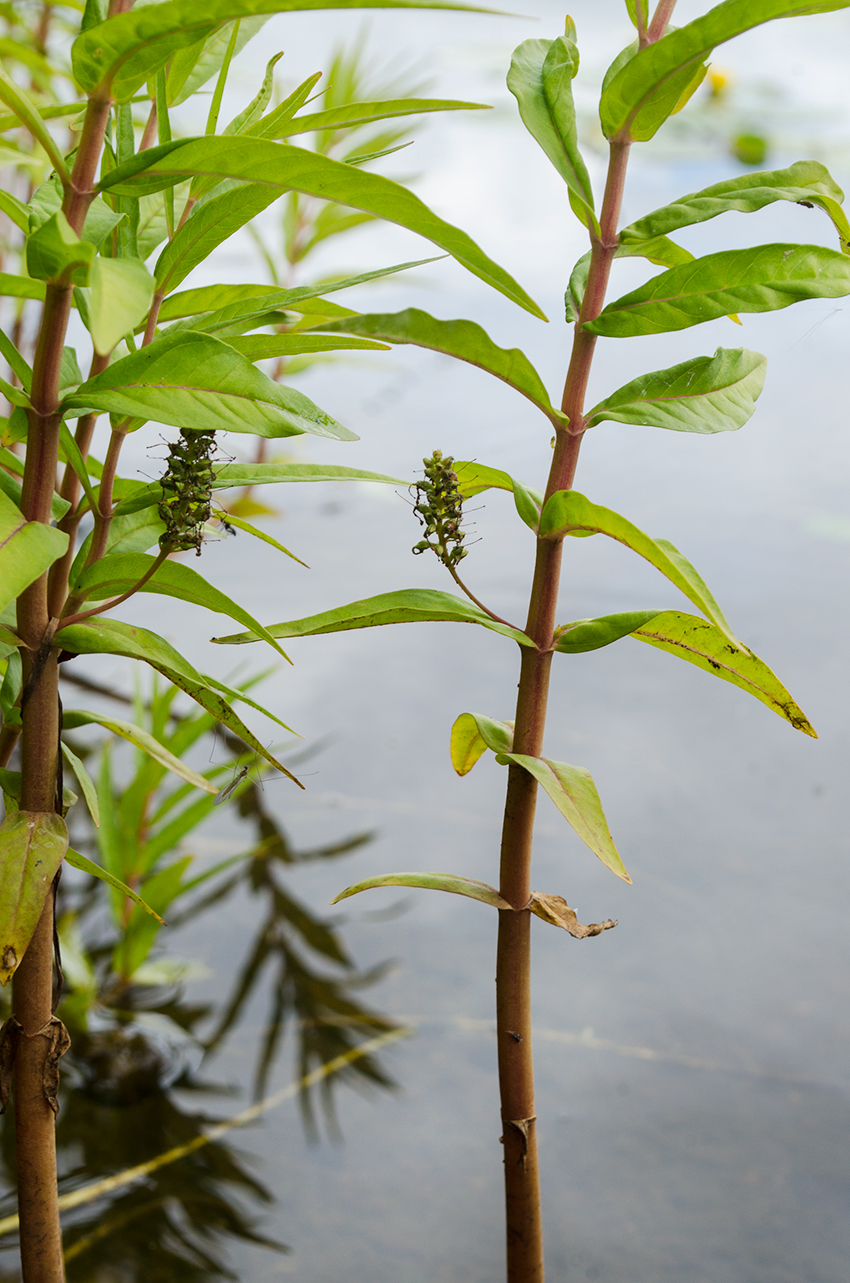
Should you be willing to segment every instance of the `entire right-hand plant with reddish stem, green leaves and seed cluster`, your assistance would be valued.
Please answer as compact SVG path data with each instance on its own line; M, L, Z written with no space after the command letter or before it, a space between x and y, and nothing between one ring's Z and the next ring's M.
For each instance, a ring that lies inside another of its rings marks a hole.
M736 318L738 313L771 312L805 299L850 294L850 225L842 209L844 194L817 162L799 160L785 169L732 177L682 195L626 227L621 225L632 146L654 137L665 121L686 108L718 45L776 18L828 13L847 4L724 0L678 30L671 26L674 6L676 0L658 0L650 13L645 0L627 0L635 40L614 58L599 100L609 146L600 207L577 140L572 82L578 72L578 47L572 19L567 18L563 36L524 41L510 64L508 86L522 121L563 178L567 203L588 239L587 253L567 282L565 322L572 327L572 341L559 402L550 399L524 353L499 348L472 321L444 321L408 309L347 316L317 327L317 332L445 353L490 372L526 396L545 421L537 485L485 463L455 462L435 452L424 461L426 479L418 488L417 514L426 529L414 552L431 549L464 595L405 589L271 629L274 638L285 640L387 624L453 621L476 624L519 647L519 686L512 718L506 708L499 717L464 712L451 729L450 743L459 775L472 770L487 752L508 769L499 887L459 874L400 872L367 879L337 897L374 887L423 887L468 896L499 911L496 1020L509 1283L541 1283L544 1278L531 1037L531 919L536 916L577 938L600 935L615 925L609 920L583 926L562 896L533 890L532 839L540 789L585 845L613 874L631 881L590 772L544 756L553 665L569 665L569 658L555 657L633 638L732 683L794 729L815 734L779 679L736 636L690 561L668 540L651 538L628 517L574 489L582 443L599 425L613 421L703 436L733 431L753 414L765 377L762 354L718 348L713 355L653 370L588 407L588 377L600 339L619 343L659 336L705 321ZM678 232L726 212L755 214L776 201L813 210L801 217L809 219L814 242L729 248L696 257L678 240ZM831 244L821 244L817 237L829 237ZM609 302L609 277L621 258L644 259L660 271ZM553 429L554 452L549 448ZM533 539L528 615L522 627L479 602L458 572L465 552L463 503L492 489L513 495L521 531L524 525ZM574 547L573 539L595 535L615 540L653 566L699 613L674 604L559 624L562 559ZM242 633L219 640L245 643L256 638Z

